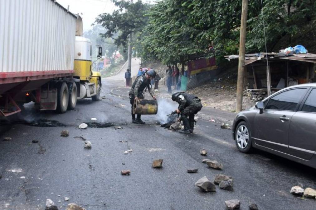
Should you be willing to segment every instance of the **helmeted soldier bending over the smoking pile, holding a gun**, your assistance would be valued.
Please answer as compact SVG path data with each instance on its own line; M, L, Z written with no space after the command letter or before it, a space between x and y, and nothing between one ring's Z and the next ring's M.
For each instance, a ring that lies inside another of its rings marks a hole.
M172 100L179 103L176 112L181 113L181 120L184 125L184 129L179 133L192 133L195 122L194 114L202 109L201 100L197 96L188 93L173 93Z

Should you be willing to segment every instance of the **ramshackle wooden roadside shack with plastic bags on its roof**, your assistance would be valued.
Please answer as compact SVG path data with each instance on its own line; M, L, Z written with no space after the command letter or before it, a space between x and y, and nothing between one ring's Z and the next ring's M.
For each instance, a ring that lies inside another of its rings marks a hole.
M228 61L239 55L225 56ZM285 87L310 83L316 54L260 53L245 55L245 83L252 99L259 101Z

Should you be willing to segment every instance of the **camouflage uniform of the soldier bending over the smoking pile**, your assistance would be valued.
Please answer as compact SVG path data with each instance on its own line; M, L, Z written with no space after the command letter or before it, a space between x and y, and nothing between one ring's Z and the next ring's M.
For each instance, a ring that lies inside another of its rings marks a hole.
M179 103L178 109L181 113L182 122L185 124L189 118L190 131L194 129L194 115L202 109L201 100L194 95L188 93L181 93L177 98L176 102Z

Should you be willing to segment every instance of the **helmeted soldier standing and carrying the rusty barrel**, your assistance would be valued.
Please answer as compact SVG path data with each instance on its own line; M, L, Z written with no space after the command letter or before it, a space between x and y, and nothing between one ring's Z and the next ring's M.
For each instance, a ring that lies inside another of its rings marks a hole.
M134 106L134 102L137 99L144 99L144 93L143 90L147 87L149 94L151 95L151 97L153 97L155 100L156 96L154 95L154 91L151 88L150 85L150 80L154 79L156 76L156 72L153 69L150 69L149 71L147 71L145 74L138 76L133 85L131 86L131 90L129 93L130 96L130 102L131 102L131 114L132 114L132 122L136 123L136 124L145 124L145 122L143 122L140 119L140 114L137 114L137 119L135 119L135 114L133 113L133 106Z

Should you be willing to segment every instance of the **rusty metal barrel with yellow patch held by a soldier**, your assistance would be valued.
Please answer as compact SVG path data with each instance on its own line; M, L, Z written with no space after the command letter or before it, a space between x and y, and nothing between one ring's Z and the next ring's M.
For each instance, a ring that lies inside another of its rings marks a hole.
M138 99L134 102L134 114L157 114L158 102L157 100Z

